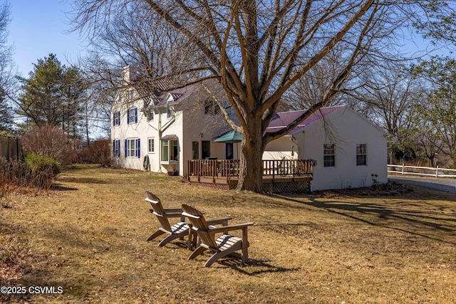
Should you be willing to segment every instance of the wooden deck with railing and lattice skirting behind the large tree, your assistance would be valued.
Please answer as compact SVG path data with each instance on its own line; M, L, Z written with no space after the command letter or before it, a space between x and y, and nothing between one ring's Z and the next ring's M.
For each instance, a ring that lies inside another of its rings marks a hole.
M234 159L193 159L188 163L187 179L218 189L234 189L239 181L239 160ZM281 159L263 161L263 184L308 182L313 178L314 167L311 159Z

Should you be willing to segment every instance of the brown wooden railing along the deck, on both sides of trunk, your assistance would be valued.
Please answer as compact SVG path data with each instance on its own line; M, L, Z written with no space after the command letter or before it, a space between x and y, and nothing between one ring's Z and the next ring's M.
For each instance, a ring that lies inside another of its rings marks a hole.
M188 161L188 175L197 177L239 177L238 159L191 159ZM263 160L263 177L295 177L314 174L311 159Z

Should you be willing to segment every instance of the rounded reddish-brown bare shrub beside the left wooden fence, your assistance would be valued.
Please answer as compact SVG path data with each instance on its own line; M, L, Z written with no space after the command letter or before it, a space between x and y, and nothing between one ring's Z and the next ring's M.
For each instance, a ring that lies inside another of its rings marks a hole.
M71 164L75 155L74 144L58 127L46 125L28 132L21 139L24 152L51 157L63 166Z

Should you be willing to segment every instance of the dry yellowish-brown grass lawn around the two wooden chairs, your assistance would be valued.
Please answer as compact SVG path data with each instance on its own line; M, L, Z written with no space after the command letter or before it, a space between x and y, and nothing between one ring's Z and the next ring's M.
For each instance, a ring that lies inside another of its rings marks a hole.
M0 214L0 294L11 303L456 303L456 196L414 188L376 196L266 196L203 189L178 177L78 166L58 190L9 194ZM144 201L183 202L249 227L239 255L204 268L185 241L147 242ZM57 289L56 289L57 290Z

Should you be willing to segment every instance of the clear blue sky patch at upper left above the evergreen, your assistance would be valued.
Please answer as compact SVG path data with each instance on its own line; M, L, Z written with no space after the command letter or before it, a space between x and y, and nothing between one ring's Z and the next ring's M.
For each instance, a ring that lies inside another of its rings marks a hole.
M4 0L0 0L4 1ZM71 64L84 53L78 33L67 33L68 0L9 0L11 23L9 45L14 45L14 61L23 77L33 70L33 64L55 53L62 64Z

